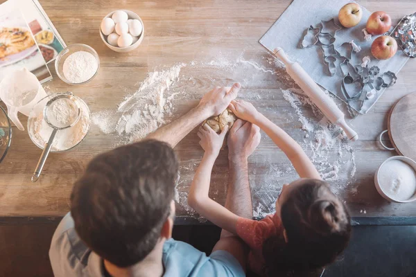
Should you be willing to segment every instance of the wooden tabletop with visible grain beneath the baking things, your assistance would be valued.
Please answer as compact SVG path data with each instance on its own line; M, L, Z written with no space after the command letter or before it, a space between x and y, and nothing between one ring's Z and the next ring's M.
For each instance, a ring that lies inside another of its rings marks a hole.
M0 1L1 2L1 1ZM123 98L138 87L138 82L149 72L178 62L215 60L217 57L238 57L273 69L268 64L270 54L258 43L290 0L218 1L218 0L165 0L165 1L80 1L40 0L44 10L67 44L83 43L92 46L101 59L101 68L94 80L79 87L69 87L55 74L45 84L49 93L73 91L87 102L92 113L103 109L115 109ZM360 1L365 8L387 11L397 22L403 15L415 12L413 0ZM108 12L117 9L137 12L144 21L145 37L137 50L115 53L103 44L98 28ZM290 32L290 26L288 26ZM188 72L187 72L188 70ZM283 69L278 74L257 73L248 78L234 71L217 72L213 69L184 69L197 82L185 84L187 93L178 96L173 115L176 118L191 109L200 96L214 86L242 82L241 98L251 100L260 111L283 127L297 141L304 141L305 132L293 108L284 100L280 89L287 88ZM192 71L192 72L189 72ZM234 73L233 73L234 72ZM182 74L182 72L181 72ZM409 60L399 73L395 86L389 88L374 108L365 116L354 118L351 125L360 136L352 144L355 154L356 173L338 192L344 197L354 216L416 216L413 204L392 204L385 201L374 188L374 172L378 166L395 152L382 150L377 143L378 134L386 128L386 116L393 103L401 96L416 91L416 62ZM256 97L258 96L258 97ZM24 118L24 116L21 116ZM22 120L26 124L26 119ZM295 179L291 165L265 134L261 144L250 157L250 181L254 208L270 206L277 197L281 185ZM83 143L69 152L51 154L46 161L42 177L31 183L31 175L41 150L29 139L27 132L13 128L12 146L5 161L0 164L0 217L10 216L62 216L69 211L69 195L73 182L80 177L87 163L96 154L114 148L116 138L92 128ZM177 145L181 161L182 181L178 186L177 215L192 215L186 204L186 192L194 170L202 157L195 130ZM336 150L329 156L336 155ZM270 180L271 172L288 172ZM351 170L351 168L341 168ZM222 152L213 173L211 197L221 204L225 201L227 183L227 152ZM265 182L268 186L265 186ZM270 182L272 185L270 186ZM267 200L267 201L266 201ZM262 204L262 205L261 205ZM364 211L364 212L363 212ZM198 215L194 215L198 217Z

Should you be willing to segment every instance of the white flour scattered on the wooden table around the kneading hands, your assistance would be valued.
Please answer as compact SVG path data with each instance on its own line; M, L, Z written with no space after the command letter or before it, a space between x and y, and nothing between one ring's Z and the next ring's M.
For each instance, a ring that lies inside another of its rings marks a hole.
M294 131L297 137L302 138L297 139L298 143L310 154L322 177L336 184L334 190L343 190L347 186L348 177L354 175L354 152L344 139L333 137L338 128L321 120L323 115L319 109L306 96L302 96L300 89L292 89L296 86L295 82L286 73L281 62L266 52L262 57L252 59L243 57L243 54L234 57L220 54L212 60L182 62L152 71L139 83L136 91L126 96L114 109L93 113L93 124L103 134L112 134L116 138L116 145L123 145L139 141L158 127L181 116L176 110L184 101L198 102L214 86L230 86L233 82L240 82L243 88L239 98L252 102L266 98L278 100L281 98L279 88L282 88L283 96L291 106L288 110L280 111L280 107L277 109L272 106L258 109L263 113L277 114L281 118L299 117L302 126ZM207 72L211 74L207 75ZM275 89L268 89L269 87ZM262 93L254 93L250 88L262 89ZM312 111L314 119L308 120L303 115L304 111ZM265 137L263 136L262 141ZM281 186L298 178L286 157L279 156L284 161L276 161L275 154L281 155L282 152L277 147L275 149L276 152L267 154L254 152L250 157L253 163L263 165L266 170L256 172L256 169L252 169L254 172L249 172L254 216L263 217L274 212ZM334 151L336 157L328 157L328 153ZM195 215L187 204L187 196L199 162L197 159L180 161L181 178L175 188L175 201L189 215ZM340 171L348 171L349 176L340 174ZM223 178L226 177L213 174L211 188L214 191L210 192L210 196L214 199L216 195L225 195L227 186L223 185Z

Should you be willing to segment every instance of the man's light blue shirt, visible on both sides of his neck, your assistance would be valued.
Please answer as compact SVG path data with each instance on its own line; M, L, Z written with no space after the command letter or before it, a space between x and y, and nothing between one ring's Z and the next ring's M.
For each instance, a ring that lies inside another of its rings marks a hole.
M53 234L49 258L55 277L103 277L103 259L78 237L71 213L67 213ZM239 262L227 251L206 256L191 245L167 240L163 247L164 276L245 276Z

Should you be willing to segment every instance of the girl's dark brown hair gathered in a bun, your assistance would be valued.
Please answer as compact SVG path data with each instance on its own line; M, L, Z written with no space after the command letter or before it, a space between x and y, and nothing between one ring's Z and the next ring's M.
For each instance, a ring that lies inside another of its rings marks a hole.
M281 205L283 234L263 243L266 276L293 276L333 262L347 247L351 223L346 206L324 181L309 179L291 191Z

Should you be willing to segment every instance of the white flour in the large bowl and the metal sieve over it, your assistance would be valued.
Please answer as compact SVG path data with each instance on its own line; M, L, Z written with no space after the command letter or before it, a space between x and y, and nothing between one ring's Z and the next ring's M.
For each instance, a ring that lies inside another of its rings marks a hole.
M56 102L58 102L58 100ZM51 109L51 113L60 114L59 116L56 116L55 114L55 118L63 118L62 120L67 120L65 119L66 116L62 115L66 114L72 116L71 113L69 113L67 110L68 108L71 109L71 107L68 107L66 102L60 102L58 104L59 105L55 106L55 110ZM51 150L68 150L69 148L73 148L73 146L77 145L84 139L89 129L89 111L85 105L80 105L80 113L80 119L75 125L67 129L58 130L58 132L56 132ZM44 148L46 142L49 141L49 137L51 136L53 129L44 120L43 112L40 112L36 118L33 118L31 125L32 126L29 127L29 134L31 139L33 139L35 144L41 148Z

